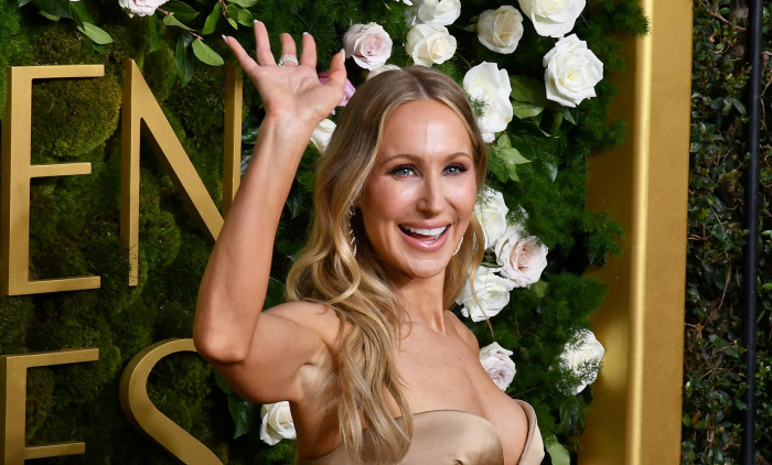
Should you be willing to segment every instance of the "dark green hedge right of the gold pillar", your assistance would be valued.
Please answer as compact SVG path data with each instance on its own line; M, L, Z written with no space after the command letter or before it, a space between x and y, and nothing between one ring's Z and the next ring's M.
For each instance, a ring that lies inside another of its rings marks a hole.
M695 1L682 462L739 463L747 9ZM764 7L757 463L772 461L772 7Z

